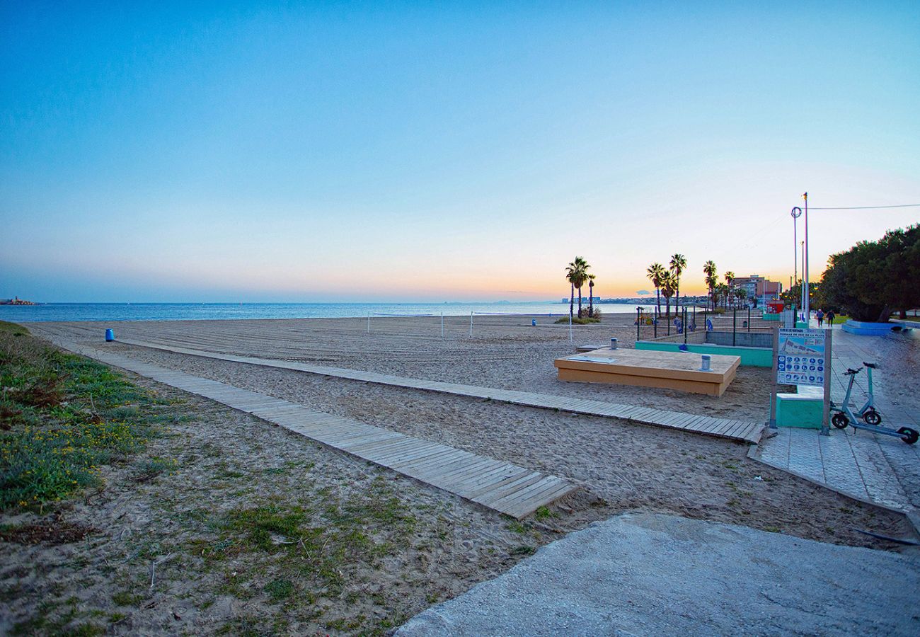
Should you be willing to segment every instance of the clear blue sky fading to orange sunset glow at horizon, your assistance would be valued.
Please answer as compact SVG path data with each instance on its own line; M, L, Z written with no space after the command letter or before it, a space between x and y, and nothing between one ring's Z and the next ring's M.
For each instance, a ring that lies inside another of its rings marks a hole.
M788 284L802 192L920 203L918 104L917 2L6 2L0 297ZM918 221L811 210L811 279Z

